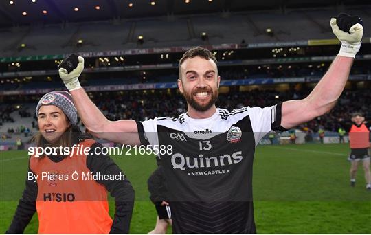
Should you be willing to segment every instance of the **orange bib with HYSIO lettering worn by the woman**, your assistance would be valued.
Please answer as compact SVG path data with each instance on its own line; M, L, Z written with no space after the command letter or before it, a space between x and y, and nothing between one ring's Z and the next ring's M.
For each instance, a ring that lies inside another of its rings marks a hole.
M80 142L84 148L95 141ZM91 179L87 155L81 153L54 162L49 157L30 159L36 174L38 233L108 234L112 219L106 188ZM78 176L78 179L76 179ZM83 177L85 176L85 177Z

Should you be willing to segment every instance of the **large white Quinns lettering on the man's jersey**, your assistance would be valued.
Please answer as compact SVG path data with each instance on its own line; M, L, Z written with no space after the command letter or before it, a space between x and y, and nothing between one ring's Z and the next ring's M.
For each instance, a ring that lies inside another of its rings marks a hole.
M232 153L232 155L225 154L218 157L184 157L181 153L175 153L171 157L172 168L186 170L187 168L209 168L216 166L226 166L238 164L242 161L242 151Z

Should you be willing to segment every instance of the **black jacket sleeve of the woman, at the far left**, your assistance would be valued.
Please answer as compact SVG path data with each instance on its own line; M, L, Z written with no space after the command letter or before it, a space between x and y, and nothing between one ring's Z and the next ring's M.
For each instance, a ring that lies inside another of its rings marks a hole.
M28 168L28 172L32 172L30 167ZM32 216L36 212L37 192L37 183L27 178L25 181L25 190L23 190L22 198L16 207L12 223L8 231L6 231L7 234L23 233L25 227L30 223Z

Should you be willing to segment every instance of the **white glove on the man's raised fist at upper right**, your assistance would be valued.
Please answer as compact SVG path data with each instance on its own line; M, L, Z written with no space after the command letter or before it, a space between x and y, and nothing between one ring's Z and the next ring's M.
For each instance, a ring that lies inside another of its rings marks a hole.
M354 21L354 16L344 15L345 14L343 14L342 17L353 18L349 19L349 22L351 22L351 20ZM345 19L345 21L347 20L348 19ZM361 40L363 36L363 26L361 25L361 23L355 23L354 25L352 25L352 27L349 28L349 32L344 32L344 30L339 29L339 23L337 23L336 18L331 18L330 25L333 28L335 36L337 36L337 39L339 39L339 41L341 42L339 56L355 58L355 55L359 51L359 48L361 48Z

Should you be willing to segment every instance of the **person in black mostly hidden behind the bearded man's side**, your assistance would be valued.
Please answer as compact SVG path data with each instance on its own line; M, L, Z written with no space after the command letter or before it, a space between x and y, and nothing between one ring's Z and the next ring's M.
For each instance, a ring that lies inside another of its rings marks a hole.
M166 180L161 165L158 165L157 169L148 179L150 201L155 204L157 211L155 228L148 234L166 234L168 225L172 225L170 204L168 202L168 197L166 196L168 194Z

